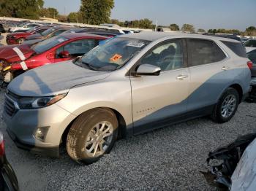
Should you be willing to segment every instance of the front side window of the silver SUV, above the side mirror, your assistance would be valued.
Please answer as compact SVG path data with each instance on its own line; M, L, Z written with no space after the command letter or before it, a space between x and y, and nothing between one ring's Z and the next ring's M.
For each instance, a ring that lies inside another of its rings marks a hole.
M157 46L144 55L139 65L141 64L159 66L162 71L183 68L182 41L173 40Z

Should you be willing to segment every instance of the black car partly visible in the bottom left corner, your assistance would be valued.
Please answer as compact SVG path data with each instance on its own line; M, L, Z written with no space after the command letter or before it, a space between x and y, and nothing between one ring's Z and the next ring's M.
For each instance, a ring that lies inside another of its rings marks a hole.
M18 191L18 180L8 163L4 150L3 134L0 131L0 191Z

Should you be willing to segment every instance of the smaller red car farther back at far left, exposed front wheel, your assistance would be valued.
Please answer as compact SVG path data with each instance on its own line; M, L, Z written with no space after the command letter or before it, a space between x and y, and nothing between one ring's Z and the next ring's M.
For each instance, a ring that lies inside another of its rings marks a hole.
M30 36L32 34L41 34L43 31L46 31L48 28L50 27L40 26L26 32L17 32L17 33L7 34L6 42L7 44L22 44L27 36Z

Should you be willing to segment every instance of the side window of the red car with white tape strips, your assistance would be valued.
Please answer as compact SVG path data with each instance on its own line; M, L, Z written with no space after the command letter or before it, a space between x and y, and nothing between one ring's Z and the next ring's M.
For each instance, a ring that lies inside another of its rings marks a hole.
M91 49L97 46L97 42L95 39L82 39L73 42L69 42L62 47L59 47L56 50L56 58L60 57L60 52L67 51L72 57L77 57L80 55L84 55L89 52Z

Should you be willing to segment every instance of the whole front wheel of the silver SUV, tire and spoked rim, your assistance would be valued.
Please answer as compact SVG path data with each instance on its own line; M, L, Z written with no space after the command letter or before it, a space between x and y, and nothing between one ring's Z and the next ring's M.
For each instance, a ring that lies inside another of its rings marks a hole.
M78 163L89 165L109 153L117 139L118 121L110 109L81 114L67 135L67 152Z

